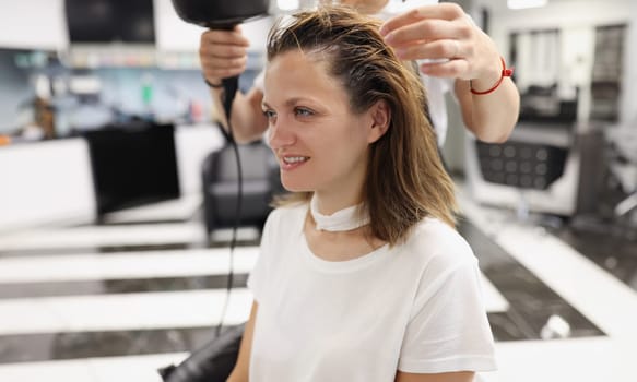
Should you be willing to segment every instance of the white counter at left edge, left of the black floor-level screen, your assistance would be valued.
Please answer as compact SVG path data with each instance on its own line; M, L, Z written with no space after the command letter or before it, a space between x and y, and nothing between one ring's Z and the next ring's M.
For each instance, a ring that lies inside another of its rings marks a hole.
M0 232L96 216L89 145L82 139L0 148Z

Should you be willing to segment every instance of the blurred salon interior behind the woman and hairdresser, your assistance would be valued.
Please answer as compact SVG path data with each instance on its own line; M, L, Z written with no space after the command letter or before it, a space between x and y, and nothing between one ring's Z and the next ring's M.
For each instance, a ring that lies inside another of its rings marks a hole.
M637 2L455 2L521 95L502 144L469 135L447 99L443 155L499 360L481 378L635 381ZM311 4L273 0L271 14ZM243 25L241 89L273 20ZM0 381L161 381L220 322L247 320L281 190L268 147L243 145L231 261L237 172L202 32L170 0L0 0Z

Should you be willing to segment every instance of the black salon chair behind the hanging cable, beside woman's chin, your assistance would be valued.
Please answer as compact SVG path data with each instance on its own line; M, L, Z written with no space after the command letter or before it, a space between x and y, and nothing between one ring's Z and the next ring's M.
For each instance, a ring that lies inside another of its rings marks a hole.
M262 141L238 145L243 175L240 226L263 227L274 194L282 190L274 154ZM233 227L237 218L237 163L228 143L203 162L202 187L207 232Z

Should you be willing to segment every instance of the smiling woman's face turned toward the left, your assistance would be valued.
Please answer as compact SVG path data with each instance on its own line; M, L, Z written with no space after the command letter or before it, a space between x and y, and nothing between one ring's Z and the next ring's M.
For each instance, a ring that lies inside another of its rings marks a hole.
M316 57L292 50L268 63L268 140L287 190L355 199L365 180L368 146L381 135L374 129L378 104L353 114L343 86Z

